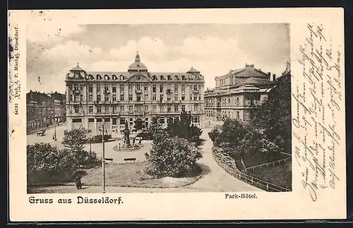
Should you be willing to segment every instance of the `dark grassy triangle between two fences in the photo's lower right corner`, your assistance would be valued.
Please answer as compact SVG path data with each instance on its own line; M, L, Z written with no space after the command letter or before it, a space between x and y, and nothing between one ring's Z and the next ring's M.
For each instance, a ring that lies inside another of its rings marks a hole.
M255 169L251 176L292 190L292 162Z

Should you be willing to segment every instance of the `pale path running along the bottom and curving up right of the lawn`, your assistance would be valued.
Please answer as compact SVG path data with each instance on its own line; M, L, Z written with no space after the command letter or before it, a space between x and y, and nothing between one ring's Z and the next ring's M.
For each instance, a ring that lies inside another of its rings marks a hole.
M57 129L56 129L57 130ZM263 191L260 188L246 184L244 181L240 181L234 176L225 172L220 167L212 156L213 143L208 137L210 128L203 129L202 138L205 139L203 148L203 157L199 160L204 175L196 181L194 184L181 188L124 188L107 186L107 193L111 192L236 192L236 191ZM49 130L50 131L50 130ZM48 132L49 134L49 132ZM57 132L58 134L58 132ZM58 134L59 136L59 134ZM37 136L34 136L37 137ZM45 136L44 136L45 137ZM44 139L43 137L43 139ZM52 143L52 139L49 139ZM59 138L58 138L59 141ZM60 139L61 142L61 139ZM98 149L98 148L97 148ZM102 186L84 186L83 189L77 190L75 186L51 186L37 188L37 191L45 191L46 193L100 193L102 192Z

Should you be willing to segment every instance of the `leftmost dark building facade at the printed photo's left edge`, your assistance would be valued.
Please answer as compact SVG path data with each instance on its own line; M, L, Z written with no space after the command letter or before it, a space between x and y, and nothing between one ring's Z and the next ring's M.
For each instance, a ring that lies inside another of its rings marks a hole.
M35 101L27 102L27 131L42 127L42 107Z

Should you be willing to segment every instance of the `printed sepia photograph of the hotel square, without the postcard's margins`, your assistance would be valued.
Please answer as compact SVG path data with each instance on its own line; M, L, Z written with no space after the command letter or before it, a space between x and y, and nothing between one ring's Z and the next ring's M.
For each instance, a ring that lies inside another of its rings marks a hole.
M28 25L27 192L292 191L289 28Z

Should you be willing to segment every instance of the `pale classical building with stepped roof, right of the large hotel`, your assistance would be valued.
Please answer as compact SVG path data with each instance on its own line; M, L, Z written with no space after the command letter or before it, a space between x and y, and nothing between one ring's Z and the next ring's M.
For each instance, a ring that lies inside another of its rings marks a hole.
M205 91L206 118L220 121L230 117L248 121L253 109L261 105L275 86L275 75L270 79L271 73L254 68L253 64L215 77L215 88Z

